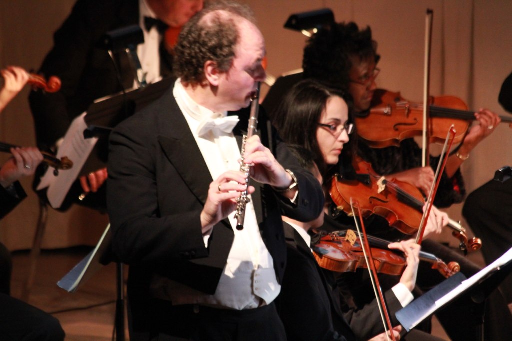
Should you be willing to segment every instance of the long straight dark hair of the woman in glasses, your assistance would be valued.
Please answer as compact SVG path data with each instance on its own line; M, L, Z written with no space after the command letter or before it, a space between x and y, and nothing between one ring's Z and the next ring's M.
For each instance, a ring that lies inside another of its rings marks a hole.
M326 174L327 164L318 145L316 131L327 101L332 96L339 96L347 102L351 121L350 97L342 90L331 89L313 79L305 79L295 84L273 115L273 123L281 138L289 145L302 146L309 150L323 175Z

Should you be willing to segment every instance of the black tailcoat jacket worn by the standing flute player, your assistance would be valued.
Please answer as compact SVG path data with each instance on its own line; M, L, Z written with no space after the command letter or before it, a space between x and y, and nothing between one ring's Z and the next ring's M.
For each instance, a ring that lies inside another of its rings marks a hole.
M248 110L240 112L233 130L239 142L248 117ZM263 240L281 280L286 265L281 214L312 220L321 212L324 196L318 180L300 167L275 134L269 134L265 117L259 121L262 141L271 141L278 161L298 179L296 204L268 185L255 184L252 194ZM200 213L213 179L172 89L116 127L108 167L113 249L131 265L129 287L137 287L139 296L151 296L152 285L165 285L170 278L214 293L234 233L223 220L214 226L205 247Z

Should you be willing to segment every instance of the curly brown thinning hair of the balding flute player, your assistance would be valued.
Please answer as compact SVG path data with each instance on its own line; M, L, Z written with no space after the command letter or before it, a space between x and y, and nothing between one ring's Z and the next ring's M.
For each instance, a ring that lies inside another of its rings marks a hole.
M183 27L174 49L174 71L185 83L204 81L204 64L217 63L221 72L229 71L239 42L238 24L247 19L255 24L248 6L219 1L192 17Z

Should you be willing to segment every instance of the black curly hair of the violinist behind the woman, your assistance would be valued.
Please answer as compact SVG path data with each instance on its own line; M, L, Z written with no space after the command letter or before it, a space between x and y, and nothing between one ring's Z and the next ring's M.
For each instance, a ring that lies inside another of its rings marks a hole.
M325 26L304 48L304 78L318 79L330 87L348 91L353 57L375 58L376 62L380 59L370 27L360 31L354 22Z

